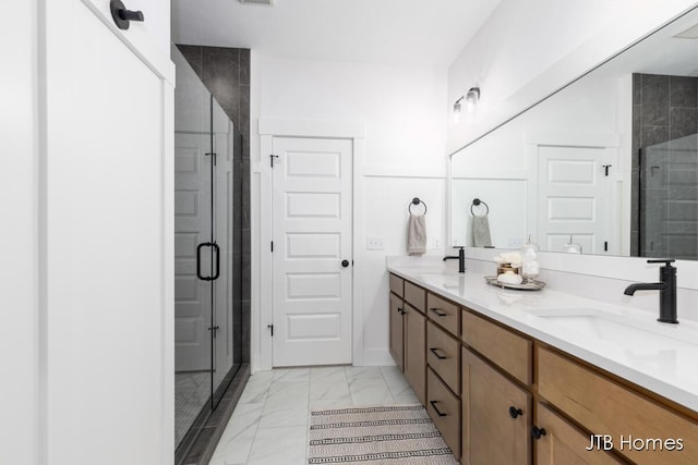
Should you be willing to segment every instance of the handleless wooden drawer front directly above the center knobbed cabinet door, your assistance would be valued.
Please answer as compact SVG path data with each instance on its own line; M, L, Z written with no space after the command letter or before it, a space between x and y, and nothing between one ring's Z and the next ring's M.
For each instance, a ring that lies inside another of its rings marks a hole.
M468 310L462 311L462 340L514 378L531 384L533 344L530 340Z

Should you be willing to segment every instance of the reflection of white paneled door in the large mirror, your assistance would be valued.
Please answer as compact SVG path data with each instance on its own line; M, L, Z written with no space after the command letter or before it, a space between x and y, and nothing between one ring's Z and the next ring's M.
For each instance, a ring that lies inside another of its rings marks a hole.
M580 244L585 254L618 247L611 231L613 167L605 147L538 147L538 233L545 250ZM610 173L612 173L610 171Z

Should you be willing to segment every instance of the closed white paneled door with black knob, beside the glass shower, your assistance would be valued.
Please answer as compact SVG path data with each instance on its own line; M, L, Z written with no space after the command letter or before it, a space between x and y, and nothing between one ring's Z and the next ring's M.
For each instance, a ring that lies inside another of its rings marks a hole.
M273 364L349 364L352 142L275 137L273 154Z

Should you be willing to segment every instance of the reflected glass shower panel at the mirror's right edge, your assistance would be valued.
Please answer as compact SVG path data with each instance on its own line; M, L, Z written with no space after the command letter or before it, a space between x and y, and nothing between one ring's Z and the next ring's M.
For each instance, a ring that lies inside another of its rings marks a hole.
M698 259L698 134L640 149L641 257Z

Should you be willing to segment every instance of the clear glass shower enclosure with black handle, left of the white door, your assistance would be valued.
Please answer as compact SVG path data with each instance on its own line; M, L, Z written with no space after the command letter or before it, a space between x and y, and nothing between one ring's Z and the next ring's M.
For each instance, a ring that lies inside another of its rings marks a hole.
M172 47L176 444L190 448L242 365L233 200L242 136ZM238 254L239 255L239 254ZM236 297L238 296L238 297Z

